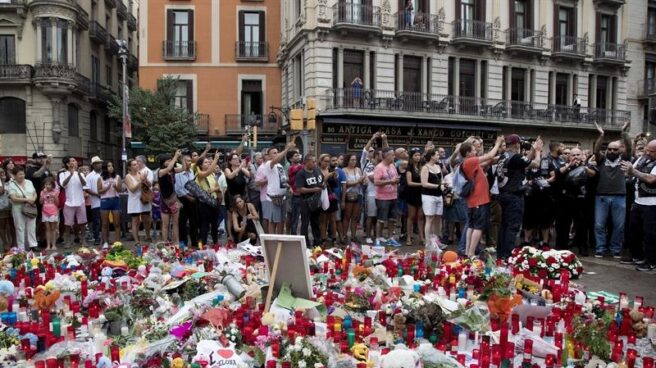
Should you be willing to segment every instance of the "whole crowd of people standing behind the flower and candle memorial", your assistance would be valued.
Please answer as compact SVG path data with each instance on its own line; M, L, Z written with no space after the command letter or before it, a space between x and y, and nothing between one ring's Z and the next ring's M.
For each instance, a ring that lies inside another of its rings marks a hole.
M219 243L221 232L255 243L264 231L304 235L308 246L451 244L466 257L483 245L501 258L551 245L653 270L656 140L632 140L627 123L606 144L597 129L591 150L511 134L487 151L469 137L450 157L431 141L394 149L382 132L360 157L302 156L293 140L244 152L245 135L227 154L208 144L159 155L153 168L137 156L124 178L97 156L82 167L65 157L55 172L36 152L26 167L3 162L0 243L107 246L130 231L135 242L191 246Z

